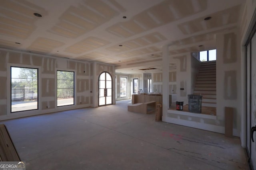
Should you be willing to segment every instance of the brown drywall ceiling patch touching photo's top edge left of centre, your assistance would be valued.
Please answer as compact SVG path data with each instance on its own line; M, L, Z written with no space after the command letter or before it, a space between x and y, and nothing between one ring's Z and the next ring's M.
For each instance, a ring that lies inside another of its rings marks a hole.
M122 9L115 0L111 2ZM118 15L119 12L112 6L106 4L104 0L84 1L84 4L79 4L78 7L70 6L70 8L60 16L59 22L48 31L64 37L76 38ZM59 29L56 29L56 27Z

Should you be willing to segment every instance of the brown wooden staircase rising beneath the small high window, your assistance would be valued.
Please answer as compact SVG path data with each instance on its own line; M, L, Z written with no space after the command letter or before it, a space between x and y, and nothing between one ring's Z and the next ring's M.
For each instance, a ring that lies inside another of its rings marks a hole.
M202 95L202 106L216 107L216 61L202 62L194 94Z

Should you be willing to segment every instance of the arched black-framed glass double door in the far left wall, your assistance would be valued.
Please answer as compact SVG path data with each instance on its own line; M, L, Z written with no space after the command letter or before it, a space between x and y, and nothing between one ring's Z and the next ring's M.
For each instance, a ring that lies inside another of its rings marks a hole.
M108 72L102 72L99 76L99 106L112 104L112 77Z

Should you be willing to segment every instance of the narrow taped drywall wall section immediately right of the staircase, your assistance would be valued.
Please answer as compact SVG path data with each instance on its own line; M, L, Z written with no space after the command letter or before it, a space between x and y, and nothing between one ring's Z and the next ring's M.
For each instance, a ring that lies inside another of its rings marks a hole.
M238 45L238 31L233 29L216 35L216 115L220 121L233 121L235 131L241 125L241 56ZM236 53L233 53L236 49ZM234 108L234 120L225 120L225 107ZM240 135L240 134L239 134Z

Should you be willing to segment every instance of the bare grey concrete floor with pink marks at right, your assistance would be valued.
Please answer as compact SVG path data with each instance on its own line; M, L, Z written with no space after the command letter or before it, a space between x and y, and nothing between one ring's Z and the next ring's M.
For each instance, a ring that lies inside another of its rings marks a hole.
M129 102L0 123L27 170L249 169L239 138L156 122Z

